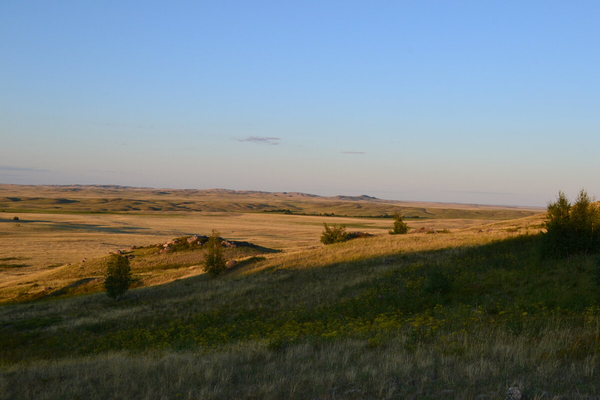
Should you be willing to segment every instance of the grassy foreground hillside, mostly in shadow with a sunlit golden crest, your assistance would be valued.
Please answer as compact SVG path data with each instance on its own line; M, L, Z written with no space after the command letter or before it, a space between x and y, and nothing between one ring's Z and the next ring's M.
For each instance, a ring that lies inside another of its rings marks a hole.
M382 235L119 302L1 306L0 398L596 398L600 260L542 260L538 231Z

